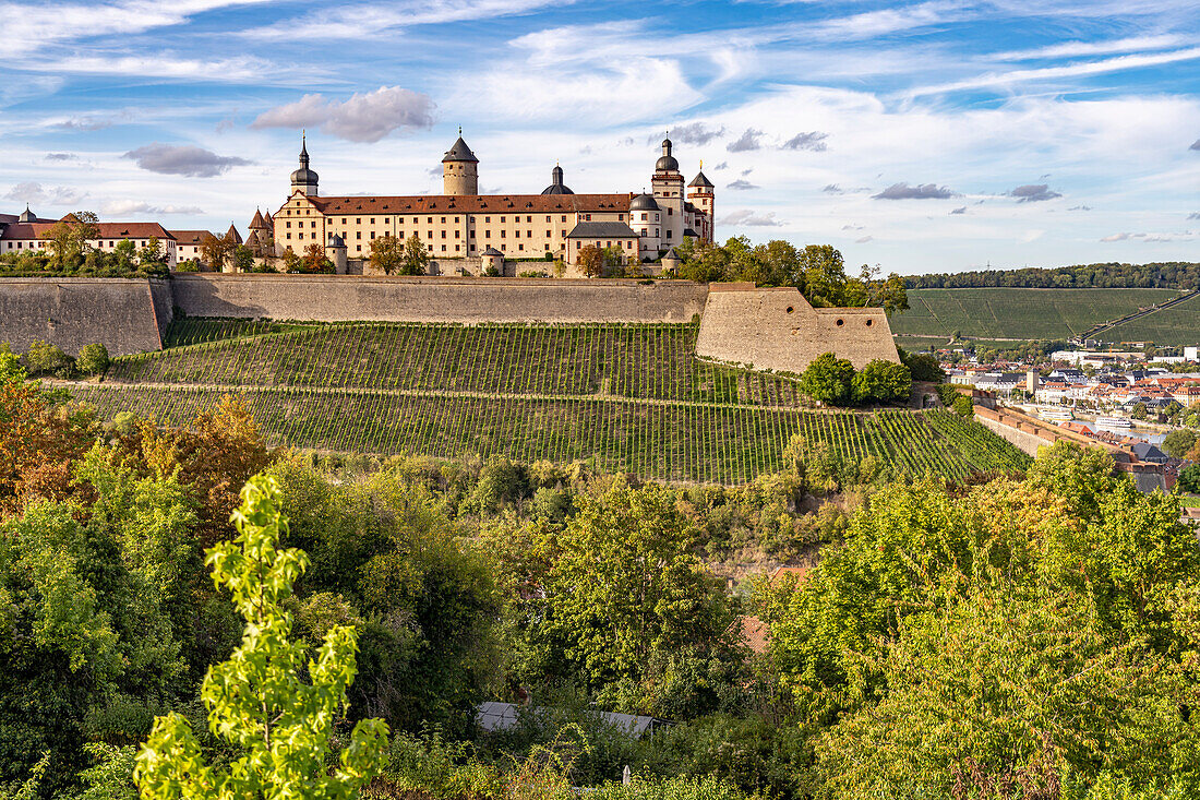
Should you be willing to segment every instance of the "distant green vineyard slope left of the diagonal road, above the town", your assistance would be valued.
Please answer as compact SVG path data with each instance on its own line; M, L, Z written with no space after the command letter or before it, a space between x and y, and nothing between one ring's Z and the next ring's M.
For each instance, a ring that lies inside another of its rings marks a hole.
M912 289L910 309L893 316L890 326L898 335L948 338L958 332L974 339L1068 339L1177 294L1140 288ZM1200 329L1200 322L1193 322L1192 329Z

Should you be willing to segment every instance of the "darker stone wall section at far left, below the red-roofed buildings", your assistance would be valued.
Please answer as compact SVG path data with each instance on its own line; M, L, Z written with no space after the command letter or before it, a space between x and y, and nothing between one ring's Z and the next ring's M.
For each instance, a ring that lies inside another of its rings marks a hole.
M18 352L35 340L71 354L97 341L110 356L161 350L170 321L169 286L155 283L157 288L148 280L112 277L2 279L0 341ZM156 305L166 306L167 322Z

